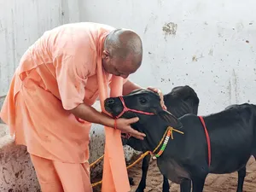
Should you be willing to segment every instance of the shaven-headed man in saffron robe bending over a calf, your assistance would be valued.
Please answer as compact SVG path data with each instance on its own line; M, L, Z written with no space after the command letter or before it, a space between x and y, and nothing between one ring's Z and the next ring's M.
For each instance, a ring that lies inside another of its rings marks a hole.
M90 125L114 127L114 119L91 105L100 84L111 87L114 77L122 79L123 95L141 88L128 76L142 60L136 32L90 22L55 27L26 50L0 116L15 143L26 145L43 192L92 191ZM116 128L143 139L143 133L131 128L137 120L117 119ZM116 155L124 154L119 150ZM120 185L113 191L129 190L127 178Z

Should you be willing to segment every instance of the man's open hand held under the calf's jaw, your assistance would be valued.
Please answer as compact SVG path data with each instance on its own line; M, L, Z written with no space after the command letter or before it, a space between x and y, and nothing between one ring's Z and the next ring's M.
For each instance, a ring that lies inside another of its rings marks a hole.
M131 128L131 124L136 123L138 120L137 117L131 119L116 119L116 128L123 133L129 133L132 137L143 140L146 135Z

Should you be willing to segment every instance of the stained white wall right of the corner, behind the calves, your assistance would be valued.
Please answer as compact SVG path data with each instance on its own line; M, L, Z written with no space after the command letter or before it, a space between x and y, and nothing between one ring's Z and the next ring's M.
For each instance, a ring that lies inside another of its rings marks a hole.
M231 103L256 104L255 0L84 0L84 4L83 21L131 28L141 35L143 66L131 75L138 84L165 92L189 84L201 99L201 114Z

